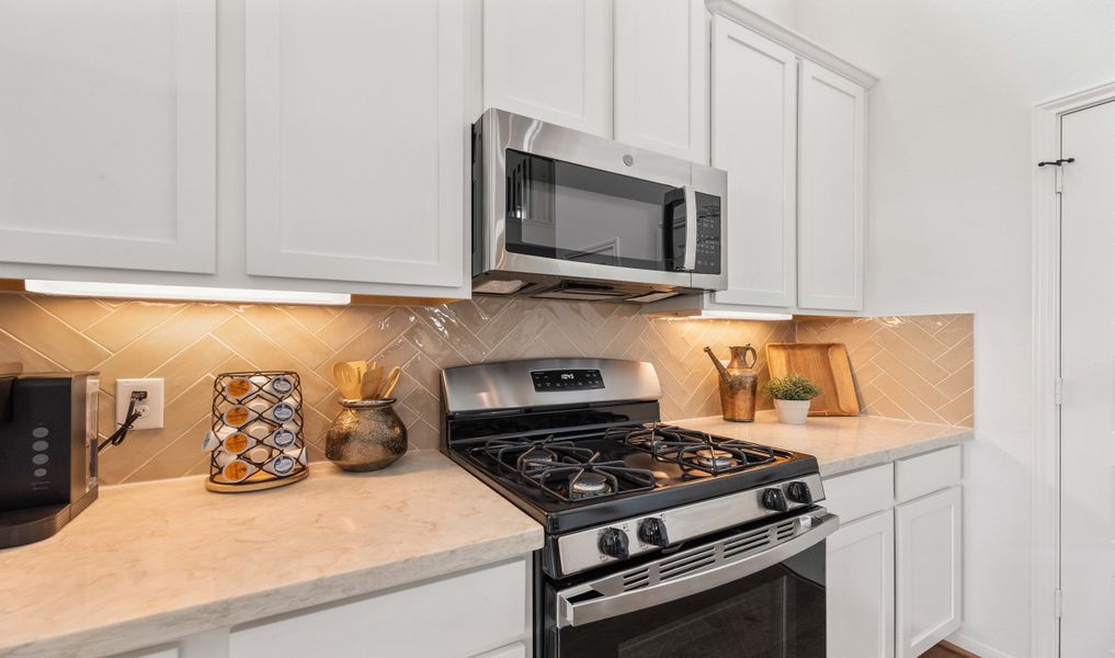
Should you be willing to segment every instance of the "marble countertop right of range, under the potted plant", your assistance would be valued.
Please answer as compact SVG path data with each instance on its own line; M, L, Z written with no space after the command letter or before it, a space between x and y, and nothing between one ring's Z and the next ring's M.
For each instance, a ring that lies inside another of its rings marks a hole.
M783 425L773 410L758 412L754 423L729 423L719 416L671 423L813 455L823 477L959 445L975 436L970 427L875 416L811 417L805 425Z

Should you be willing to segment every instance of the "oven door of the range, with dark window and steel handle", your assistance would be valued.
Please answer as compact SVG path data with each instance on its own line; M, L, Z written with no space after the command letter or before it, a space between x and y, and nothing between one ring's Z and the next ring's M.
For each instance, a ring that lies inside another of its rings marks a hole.
M824 658L824 510L545 593L546 658Z

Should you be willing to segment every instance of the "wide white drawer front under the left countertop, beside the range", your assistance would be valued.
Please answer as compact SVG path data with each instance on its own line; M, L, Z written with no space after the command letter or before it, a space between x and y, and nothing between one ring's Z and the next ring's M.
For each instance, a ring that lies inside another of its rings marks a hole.
M524 561L497 564L306 615L233 629L229 658L466 658L523 637L526 592ZM430 632L432 629L435 632Z

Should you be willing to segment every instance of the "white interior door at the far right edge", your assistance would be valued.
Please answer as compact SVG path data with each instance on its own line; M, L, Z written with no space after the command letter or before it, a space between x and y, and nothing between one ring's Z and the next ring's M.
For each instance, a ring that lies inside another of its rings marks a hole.
M1115 654L1115 103L1061 119L1061 656Z

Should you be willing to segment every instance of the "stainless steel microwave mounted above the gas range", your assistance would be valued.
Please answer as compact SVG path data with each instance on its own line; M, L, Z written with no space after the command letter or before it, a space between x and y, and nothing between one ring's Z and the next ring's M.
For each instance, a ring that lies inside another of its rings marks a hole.
M727 174L488 109L473 126L473 292L650 302L727 283Z

